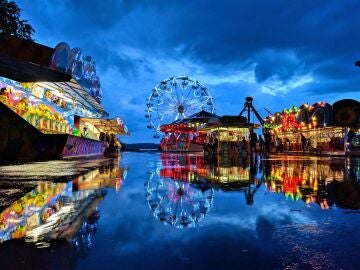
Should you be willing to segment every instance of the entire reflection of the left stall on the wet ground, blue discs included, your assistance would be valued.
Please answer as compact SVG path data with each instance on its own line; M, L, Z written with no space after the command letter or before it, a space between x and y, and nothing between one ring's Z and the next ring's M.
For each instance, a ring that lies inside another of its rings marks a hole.
M22 239L38 247L66 239L79 251L91 247L106 187L120 189L126 170L117 162L66 183L41 181L0 213L0 242Z

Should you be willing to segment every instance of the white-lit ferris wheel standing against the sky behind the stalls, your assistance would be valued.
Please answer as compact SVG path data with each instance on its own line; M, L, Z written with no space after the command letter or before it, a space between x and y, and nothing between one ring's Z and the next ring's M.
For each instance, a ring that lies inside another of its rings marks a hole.
M208 88L187 76L171 77L151 90L146 100L147 128L160 138L160 126L184 119L201 110L214 113L214 101Z

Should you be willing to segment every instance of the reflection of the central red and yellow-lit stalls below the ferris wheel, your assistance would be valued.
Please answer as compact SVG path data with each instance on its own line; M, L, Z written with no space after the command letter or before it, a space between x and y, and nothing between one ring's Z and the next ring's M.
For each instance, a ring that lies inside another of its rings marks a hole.
M261 185L262 172L260 161L250 159L228 159L217 157L218 160L206 163L202 155L180 155L162 153L162 163L156 173L162 179L171 179L185 185L190 183L201 190L221 189L223 191L241 191L248 204L252 204L254 195ZM162 180L163 181L163 180Z

